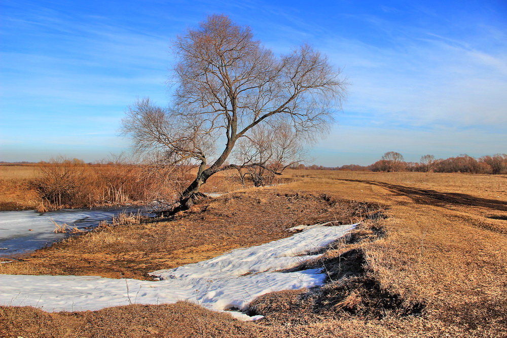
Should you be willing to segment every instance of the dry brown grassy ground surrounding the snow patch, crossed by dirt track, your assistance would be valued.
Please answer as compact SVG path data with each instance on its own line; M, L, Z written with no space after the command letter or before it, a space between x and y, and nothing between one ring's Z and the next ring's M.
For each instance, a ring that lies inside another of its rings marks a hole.
M0 170L3 180L18 179ZM19 177L33 175L23 170ZM185 302L75 313L0 307L0 336L507 335L507 176L292 170L284 177L288 184L261 189L216 178L207 191L234 192L171 220L67 239L0 265L0 273L148 279L150 271L288 236L294 225L362 221L306 264L328 269L323 287L256 299L249 313L266 316L256 322ZM28 206L13 186L21 185L4 185L3 201Z

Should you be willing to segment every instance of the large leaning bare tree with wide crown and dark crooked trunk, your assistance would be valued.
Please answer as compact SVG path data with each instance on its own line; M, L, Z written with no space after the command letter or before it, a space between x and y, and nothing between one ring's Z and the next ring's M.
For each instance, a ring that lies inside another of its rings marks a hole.
M327 57L308 45L275 57L249 27L224 15L211 15L174 43L177 87L169 108L149 99L127 111L123 131L137 152L161 152L198 164L195 179L179 203L188 208L202 196L200 186L216 172L264 167L243 161L224 165L238 140L261 125L290 126L299 139L312 141L328 131L341 108L346 83ZM221 143L224 146L218 149Z

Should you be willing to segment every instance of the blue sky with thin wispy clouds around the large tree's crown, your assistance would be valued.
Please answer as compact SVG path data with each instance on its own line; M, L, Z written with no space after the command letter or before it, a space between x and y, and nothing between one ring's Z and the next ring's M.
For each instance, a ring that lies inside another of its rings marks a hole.
M94 161L138 97L170 100L176 34L224 13L275 53L310 43L348 100L312 150L325 166L507 153L505 1L0 1L0 161Z

